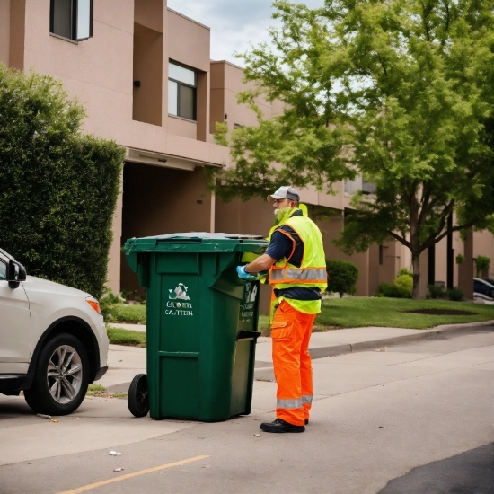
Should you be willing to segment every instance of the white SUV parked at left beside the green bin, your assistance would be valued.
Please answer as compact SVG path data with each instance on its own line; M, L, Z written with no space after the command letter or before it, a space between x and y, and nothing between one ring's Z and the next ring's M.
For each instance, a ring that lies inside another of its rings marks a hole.
M98 301L26 276L0 249L0 393L21 390L32 410L66 415L106 372L108 337Z

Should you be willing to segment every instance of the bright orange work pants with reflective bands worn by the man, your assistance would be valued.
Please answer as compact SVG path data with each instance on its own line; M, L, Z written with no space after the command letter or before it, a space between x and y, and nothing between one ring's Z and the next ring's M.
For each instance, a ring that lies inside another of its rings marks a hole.
M309 418L313 401L313 369L309 340L315 314L300 313L285 300L271 324L273 367L277 388L276 416L295 426Z

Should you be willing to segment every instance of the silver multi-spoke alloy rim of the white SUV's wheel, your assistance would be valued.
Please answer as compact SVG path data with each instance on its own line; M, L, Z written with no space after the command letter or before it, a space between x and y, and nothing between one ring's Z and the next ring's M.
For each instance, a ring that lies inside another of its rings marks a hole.
M70 403L81 391L82 382L83 365L75 348L58 347L49 357L47 383L51 397L60 404Z

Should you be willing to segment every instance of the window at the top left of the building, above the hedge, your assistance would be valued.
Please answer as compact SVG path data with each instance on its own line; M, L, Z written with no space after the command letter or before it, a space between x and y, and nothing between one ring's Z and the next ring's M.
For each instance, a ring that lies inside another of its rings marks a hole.
M49 32L67 40L93 36L93 0L51 0Z

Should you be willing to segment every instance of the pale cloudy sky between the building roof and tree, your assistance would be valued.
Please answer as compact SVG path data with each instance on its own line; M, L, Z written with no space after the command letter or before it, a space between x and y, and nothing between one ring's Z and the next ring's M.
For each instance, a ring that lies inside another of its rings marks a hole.
M311 8L320 7L324 0L305 0ZM242 66L234 52L244 52L249 44L269 40L271 0L168 0L168 7L211 28L211 58L228 60Z

